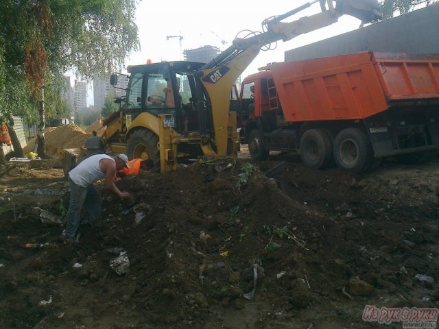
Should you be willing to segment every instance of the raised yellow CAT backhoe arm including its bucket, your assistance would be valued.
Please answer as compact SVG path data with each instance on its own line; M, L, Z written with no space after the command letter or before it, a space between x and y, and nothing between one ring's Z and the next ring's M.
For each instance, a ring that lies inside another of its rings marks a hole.
M317 2L320 3L322 12L289 23L281 22ZM228 137L231 133L229 130L232 127L229 123L230 114L228 113L230 88L237 77L256 58L259 49L272 42L291 40L300 34L331 25L344 14L355 16L362 22L381 18L377 0L336 0L335 6L333 0L314 0L283 15L266 19L262 23L264 32L254 34L249 38L235 39L233 45L213 58L211 62L202 66L198 77L209 95L209 100L206 100L208 103L204 103L198 97L198 111L201 115L206 110L211 112L213 130L215 131L213 142L218 155L222 156L230 151L228 150ZM204 122L206 121L204 120ZM201 127L202 133L208 129L206 124Z

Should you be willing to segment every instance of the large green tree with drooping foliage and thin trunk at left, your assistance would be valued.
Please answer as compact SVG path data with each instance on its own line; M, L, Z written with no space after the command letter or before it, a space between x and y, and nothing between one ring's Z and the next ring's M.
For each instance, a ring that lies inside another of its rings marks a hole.
M51 95L57 88L52 81L68 70L91 78L119 69L126 55L139 48L136 4L137 0L0 1L0 74L6 77L0 82L0 108L29 112L28 117L38 109L40 155L46 110L50 116L64 108Z

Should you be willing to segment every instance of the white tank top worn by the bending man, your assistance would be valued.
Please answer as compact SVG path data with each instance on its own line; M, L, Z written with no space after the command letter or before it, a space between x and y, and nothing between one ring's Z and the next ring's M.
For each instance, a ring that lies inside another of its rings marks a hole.
M104 178L106 173L103 173L99 168L99 161L102 159L115 160L106 154L97 154L95 156L91 156L80 162L77 167L71 169L71 171L69 171L69 178L75 184L78 184L82 187L87 187L97 180Z

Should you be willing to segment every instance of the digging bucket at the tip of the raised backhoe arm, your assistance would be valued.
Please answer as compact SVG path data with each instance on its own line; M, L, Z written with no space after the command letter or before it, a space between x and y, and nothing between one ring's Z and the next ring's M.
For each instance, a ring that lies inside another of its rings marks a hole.
M332 1L332 0L328 0ZM338 14L347 14L357 19L361 19L364 23L381 19L381 12L377 0L336 0L337 6L335 11Z

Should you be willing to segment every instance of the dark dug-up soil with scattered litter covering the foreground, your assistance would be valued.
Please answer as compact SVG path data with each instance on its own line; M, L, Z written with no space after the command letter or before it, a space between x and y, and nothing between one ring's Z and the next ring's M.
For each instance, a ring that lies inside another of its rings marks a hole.
M62 169L1 167L1 328L402 328L364 306L438 307L438 160L357 175L273 156L244 182L249 162L125 178L130 201L102 189L73 245L35 209L65 215Z

